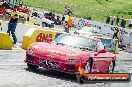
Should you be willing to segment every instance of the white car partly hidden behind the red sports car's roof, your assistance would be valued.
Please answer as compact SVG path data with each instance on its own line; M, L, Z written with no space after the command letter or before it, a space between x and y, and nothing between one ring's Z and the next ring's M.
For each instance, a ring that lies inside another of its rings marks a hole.
M83 34L83 35L92 35L92 36L102 36L100 29L94 27L82 27L80 30L74 32L75 34Z

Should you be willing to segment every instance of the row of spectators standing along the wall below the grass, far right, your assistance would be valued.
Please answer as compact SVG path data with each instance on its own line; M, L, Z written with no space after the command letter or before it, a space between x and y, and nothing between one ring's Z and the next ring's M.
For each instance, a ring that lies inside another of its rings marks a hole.
M116 25L116 26L120 26L123 28L126 28L126 24L128 21L128 27L131 29L132 28L132 19L125 19L123 16L119 17L118 15L115 16L110 16L109 14L107 15L106 18L106 24L111 24L111 25Z

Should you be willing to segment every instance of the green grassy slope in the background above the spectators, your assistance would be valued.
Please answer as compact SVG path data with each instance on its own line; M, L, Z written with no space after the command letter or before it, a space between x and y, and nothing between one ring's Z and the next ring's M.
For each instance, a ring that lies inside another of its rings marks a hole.
M57 13L63 13L68 5L74 16L92 17L93 20L105 21L105 16L119 15L132 18L132 0L23 0L31 7L42 8Z

